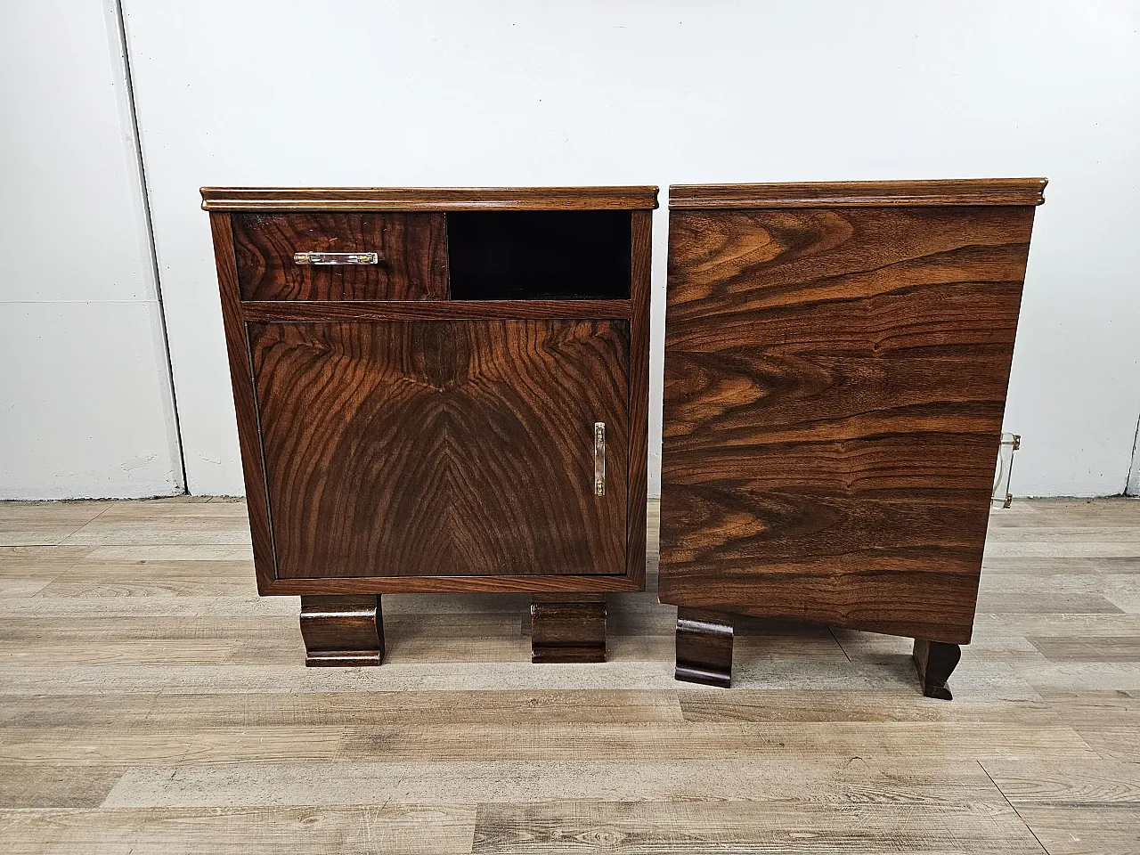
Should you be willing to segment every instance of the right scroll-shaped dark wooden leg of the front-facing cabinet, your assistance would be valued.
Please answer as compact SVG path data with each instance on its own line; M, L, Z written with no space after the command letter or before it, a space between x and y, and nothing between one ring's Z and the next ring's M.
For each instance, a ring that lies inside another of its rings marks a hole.
M604 662L602 594L535 594L530 603L531 662Z

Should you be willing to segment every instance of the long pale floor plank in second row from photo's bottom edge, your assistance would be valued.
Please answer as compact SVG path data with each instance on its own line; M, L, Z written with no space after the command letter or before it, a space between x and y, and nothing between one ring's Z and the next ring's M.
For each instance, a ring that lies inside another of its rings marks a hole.
M975 762L847 757L720 760L489 760L213 764L128 769L107 807L530 801L762 801L959 805L1001 801Z

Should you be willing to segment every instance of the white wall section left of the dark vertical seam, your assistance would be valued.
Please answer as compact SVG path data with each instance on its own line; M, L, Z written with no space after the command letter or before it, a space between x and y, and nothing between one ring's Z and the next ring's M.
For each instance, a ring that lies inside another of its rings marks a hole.
M0 79L0 498L178 492L113 2L5 3Z

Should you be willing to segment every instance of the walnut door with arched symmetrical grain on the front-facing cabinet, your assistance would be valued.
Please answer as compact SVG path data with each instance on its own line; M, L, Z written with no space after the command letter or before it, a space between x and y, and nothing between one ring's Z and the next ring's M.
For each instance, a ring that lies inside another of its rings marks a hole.
M628 321L247 333L278 578L625 572Z

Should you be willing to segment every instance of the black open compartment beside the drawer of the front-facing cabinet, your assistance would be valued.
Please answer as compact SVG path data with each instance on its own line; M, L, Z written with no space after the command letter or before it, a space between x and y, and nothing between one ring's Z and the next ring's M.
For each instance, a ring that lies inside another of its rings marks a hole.
M453 300L628 300L628 211L447 214Z

